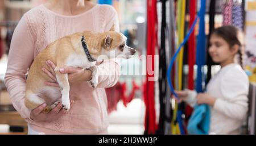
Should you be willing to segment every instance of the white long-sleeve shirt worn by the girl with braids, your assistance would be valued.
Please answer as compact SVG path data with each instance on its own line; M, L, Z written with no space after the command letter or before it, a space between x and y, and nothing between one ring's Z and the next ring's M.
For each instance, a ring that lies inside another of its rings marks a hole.
M249 79L238 64L224 66L207 85L206 93L217 100L210 108L210 133L240 134L248 110ZM196 104L196 91L188 90L186 102Z

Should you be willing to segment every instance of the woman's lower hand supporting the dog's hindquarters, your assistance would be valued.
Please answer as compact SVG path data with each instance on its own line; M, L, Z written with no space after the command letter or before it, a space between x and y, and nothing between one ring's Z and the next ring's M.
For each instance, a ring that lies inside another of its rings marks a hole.
M71 107L74 101L71 101ZM30 113L30 118L35 120L36 122L39 121L49 121L59 119L60 116L64 115L67 111L62 109L61 103L57 105L54 109L49 111L47 114L44 114L42 111L47 107L46 103L36 107L36 109L32 110Z

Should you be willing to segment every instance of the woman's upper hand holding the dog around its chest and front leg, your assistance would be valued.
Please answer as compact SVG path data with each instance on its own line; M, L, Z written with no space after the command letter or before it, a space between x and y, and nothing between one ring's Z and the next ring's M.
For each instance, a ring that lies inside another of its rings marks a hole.
M49 70L47 70L46 68L42 68L42 70L52 79L52 82L45 82L45 84L47 86L59 87L59 84L57 84L56 74L54 71L56 65L49 60L46 61L46 64L49 67ZM92 72L90 70L81 68L65 67L60 69L60 73L68 73L68 81L70 85L75 85L83 81L90 81L92 78Z

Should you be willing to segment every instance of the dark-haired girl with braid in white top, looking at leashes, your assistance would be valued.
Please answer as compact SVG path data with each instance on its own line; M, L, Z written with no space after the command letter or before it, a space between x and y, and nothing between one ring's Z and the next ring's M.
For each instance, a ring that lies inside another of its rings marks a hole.
M210 131L212 134L240 134L248 109L249 80L242 69L242 33L233 26L214 30L210 36L209 54L221 70L207 85L205 93L177 91L181 100L192 107L196 104L210 106ZM239 55L240 65L236 62Z

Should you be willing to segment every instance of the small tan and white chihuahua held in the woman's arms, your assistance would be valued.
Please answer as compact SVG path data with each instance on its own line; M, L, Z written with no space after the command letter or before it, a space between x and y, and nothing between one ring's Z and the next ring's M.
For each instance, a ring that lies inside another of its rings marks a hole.
M68 74L59 72L60 68L66 66L83 69L90 68L93 71L90 82L93 87L97 87L98 78L94 77L97 74L97 69L93 67L96 65L96 61L90 62L87 59L81 43L82 36L85 38L90 55L97 61L101 61L98 59L102 55L107 56L108 59L114 57L129 59L136 52L135 49L126 45L127 38L123 34L114 31L102 33L77 32L54 41L35 57L28 71L25 97L25 105L28 109L32 110L43 103L47 103L48 106L44 110L47 113L60 102L63 109L70 109ZM42 68L49 70L46 65L47 60L51 60L56 65L54 71L60 87L44 85L46 81L53 82L46 73L41 71Z

